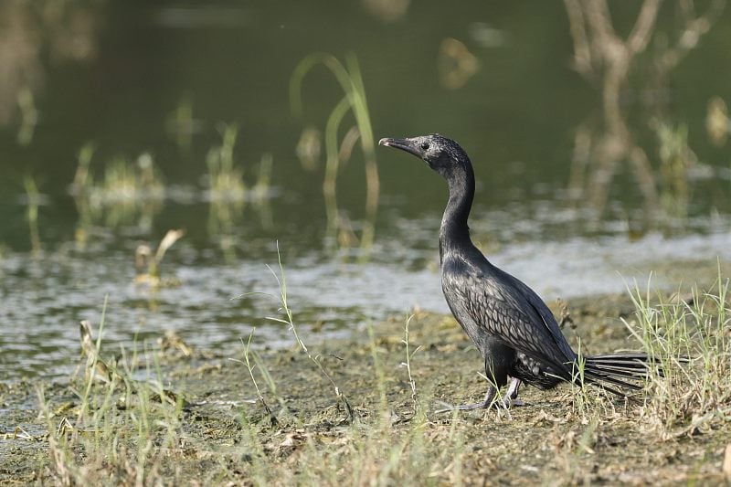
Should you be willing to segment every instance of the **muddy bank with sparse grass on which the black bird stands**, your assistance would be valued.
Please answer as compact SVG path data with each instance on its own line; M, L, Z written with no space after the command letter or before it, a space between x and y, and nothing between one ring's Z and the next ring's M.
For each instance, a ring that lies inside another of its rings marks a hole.
M564 333L574 346L581 337L586 354L640 348L620 320L634 320L629 296L567 304ZM701 414L688 411L661 428L644 394L622 401L560 386L524 389L523 408L437 414L482 398L482 360L451 317L417 312L412 387L404 331L397 317L351 340L304 336L312 358L294 345L270 350L255 334L249 365L260 393L247 366L230 360L244 361L243 346L217 356L174 335L137 359L115 362L102 349L120 371L109 383L85 378L82 359L68 382L0 386L0 482L725 482L731 409L697 427Z

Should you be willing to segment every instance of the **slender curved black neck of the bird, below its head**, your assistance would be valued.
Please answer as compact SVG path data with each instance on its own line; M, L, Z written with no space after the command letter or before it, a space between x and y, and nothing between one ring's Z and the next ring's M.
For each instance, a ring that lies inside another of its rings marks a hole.
M456 168L447 176L450 187L450 200L441 218L440 247L471 246L470 228L467 217L470 216L474 197L474 172L470 163Z

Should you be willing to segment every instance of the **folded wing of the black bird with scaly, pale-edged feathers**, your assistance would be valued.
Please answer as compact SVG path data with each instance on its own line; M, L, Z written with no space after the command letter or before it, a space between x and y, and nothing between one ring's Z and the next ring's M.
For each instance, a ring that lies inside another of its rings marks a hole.
M509 282L507 286L505 282L499 284L482 272L448 274L443 279L448 301L453 301L450 305L458 305L486 332L516 351L550 365L556 374L570 374L567 363L573 360L573 352L567 355L540 313ZM561 340L565 341L563 335Z

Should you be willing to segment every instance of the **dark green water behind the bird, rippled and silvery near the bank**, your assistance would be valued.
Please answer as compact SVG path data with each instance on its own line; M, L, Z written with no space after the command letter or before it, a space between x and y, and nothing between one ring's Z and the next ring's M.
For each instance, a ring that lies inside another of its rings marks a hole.
M415 307L447 312L436 241L446 188L424 164L376 151L375 239L360 249L369 215L356 146L337 180L345 223L329 233L324 156L308 168L295 147L303 128L323 130L342 92L320 68L305 79L302 119L288 99L292 70L315 51L358 58L376 138L442 132L464 145L479 180L474 238L546 299L622 291L662 261L731 259L728 144L710 142L705 128L708 101L731 100L727 11L664 83L650 81L648 55L622 91L624 122L648 154L659 193L647 211L624 162L608 184L573 198L576 134L600 140L601 96L569 67L559 2L530 9L463 2L449 16L427 2L393 22L367 2L62 5L40 20L25 3L0 7L0 16L16 19L0 27L13 34L0 60L16 73L0 85L0 380L68 376L79 361L79 321L98 325L105 297L109 354L135 342L154 345L166 330L232 355L252 327L262 346L291 344L285 327L266 320L278 301L259 294L279 293L267 267L279 272L278 242L290 305L310 343L363 333L367 323ZM613 14L618 29L636 15ZM658 29L672 28L670 8ZM38 40L38 31L54 34ZM475 62L446 38L458 39ZM459 60L464 72L456 81L445 77L440 69ZM26 87L32 102L19 110ZM697 162L683 176L663 173L651 120L677 129L671 142L683 141L687 129L694 157L676 151L684 154L676 159ZM262 154L270 154L272 169L259 193L229 201L208 193L206 160L232 122L239 128L233 160L246 184L257 181ZM352 123L345 118L341 136ZM70 185L86 143L95 146L90 180L97 185L115 160L135 167L147 153L162 195L130 207L112 203L106 190L96 200L74 198ZM597 164L582 185L599 174ZM35 201L24 190L26 175L40 192L39 253L26 218ZM603 189L606 201L597 202ZM154 249L171 228L186 232L162 264L178 285L151 291L135 284L135 250Z

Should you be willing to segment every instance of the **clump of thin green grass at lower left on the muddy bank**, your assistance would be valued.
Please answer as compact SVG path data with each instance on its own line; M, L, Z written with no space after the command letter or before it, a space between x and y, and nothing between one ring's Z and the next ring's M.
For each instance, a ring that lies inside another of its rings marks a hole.
M104 364L107 373L99 380L105 309L106 302L96 340L89 323L89 334L82 332L82 343L93 345L84 347L87 361L80 381L72 380L78 405L53 410L44 388L37 388L41 415L48 425L48 474L58 485L160 482L167 452L181 441L183 401L162 386L156 355L142 365L143 356L150 354L139 355L136 344L132 355L122 349L121 359ZM140 368L146 370L146 380L133 378Z

